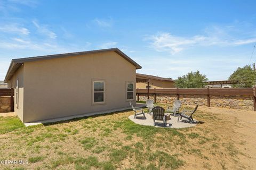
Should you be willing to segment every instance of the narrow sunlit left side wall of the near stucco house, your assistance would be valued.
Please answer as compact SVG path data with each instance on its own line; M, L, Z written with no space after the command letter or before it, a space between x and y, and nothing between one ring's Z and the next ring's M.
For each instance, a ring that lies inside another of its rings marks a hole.
M17 95L17 80L18 80L18 105L16 101ZM23 94L24 94L24 66L22 65L13 77L8 81L8 88L14 88L14 112L18 115L21 121L23 121Z

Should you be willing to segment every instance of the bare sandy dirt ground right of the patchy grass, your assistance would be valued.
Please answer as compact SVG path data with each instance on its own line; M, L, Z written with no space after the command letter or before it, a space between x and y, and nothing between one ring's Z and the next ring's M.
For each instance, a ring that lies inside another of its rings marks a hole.
M226 128L220 128L219 135L234 142L241 152L238 154L239 162L245 169L256 169L256 112L203 106L199 111L227 120Z

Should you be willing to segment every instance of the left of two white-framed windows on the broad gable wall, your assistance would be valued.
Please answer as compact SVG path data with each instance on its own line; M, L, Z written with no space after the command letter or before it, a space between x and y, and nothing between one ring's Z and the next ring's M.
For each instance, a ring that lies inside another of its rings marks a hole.
M93 103L104 103L105 101L105 82L93 81Z

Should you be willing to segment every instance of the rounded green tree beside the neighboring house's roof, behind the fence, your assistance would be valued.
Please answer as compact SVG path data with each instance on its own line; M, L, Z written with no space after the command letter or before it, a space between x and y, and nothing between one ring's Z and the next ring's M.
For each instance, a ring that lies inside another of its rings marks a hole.
M183 75L182 77L178 77L175 80L175 87L178 88L203 88L208 79L206 75L202 75L199 71L190 72L187 75Z

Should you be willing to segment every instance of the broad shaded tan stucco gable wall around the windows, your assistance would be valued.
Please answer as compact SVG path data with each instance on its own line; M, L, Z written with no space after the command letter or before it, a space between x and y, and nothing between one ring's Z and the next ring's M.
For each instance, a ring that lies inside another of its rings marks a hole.
M27 62L24 67L23 122L127 107L126 82L134 82L135 88L135 66L115 52ZM105 81L105 104L92 104L93 79Z

